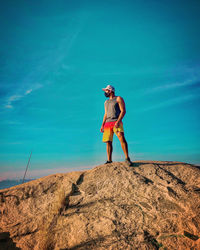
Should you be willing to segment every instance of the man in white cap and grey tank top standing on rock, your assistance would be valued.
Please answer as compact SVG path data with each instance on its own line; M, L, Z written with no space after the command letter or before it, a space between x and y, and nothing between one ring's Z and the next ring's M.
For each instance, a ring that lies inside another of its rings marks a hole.
M126 113L125 103L122 97L115 96L115 88L111 85L107 85L102 89L106 97L109 97L105 101L105 114L100 131L103 133L103 142L107 143L107 156L108 160L105 164L112 163L112 141L113 134L115 133L120 140L122 149L125 154L125 162L128 166L132 165L132 162L128 156L128 144L124 137L124 129L122 118Z

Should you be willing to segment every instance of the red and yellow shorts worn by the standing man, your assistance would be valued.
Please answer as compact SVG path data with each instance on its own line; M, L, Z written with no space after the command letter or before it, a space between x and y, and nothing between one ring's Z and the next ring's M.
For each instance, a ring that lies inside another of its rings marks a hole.
M103 132L103 142L113 141L113 134L117 135L117 132L124 132L123 122L119 123L119 127L116 128L115 126L116 121L114 122L106 122L104 124L104 132Z

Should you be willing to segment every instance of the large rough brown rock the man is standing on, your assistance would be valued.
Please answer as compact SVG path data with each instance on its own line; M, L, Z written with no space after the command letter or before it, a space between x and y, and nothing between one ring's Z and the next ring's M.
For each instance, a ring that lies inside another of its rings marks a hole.
M0 190L0 249L200 249L200 167L98 165Z

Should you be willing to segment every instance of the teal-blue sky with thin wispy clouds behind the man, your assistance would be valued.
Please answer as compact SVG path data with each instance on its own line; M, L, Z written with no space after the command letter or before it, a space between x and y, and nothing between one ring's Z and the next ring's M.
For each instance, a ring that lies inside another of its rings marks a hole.
M21 178L31 151L27 178L104 163L107 84L133 161L200 164L199 13L198 0L2 1L1 178Z

